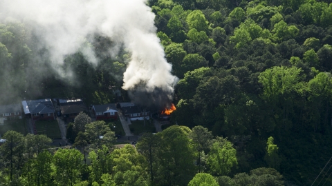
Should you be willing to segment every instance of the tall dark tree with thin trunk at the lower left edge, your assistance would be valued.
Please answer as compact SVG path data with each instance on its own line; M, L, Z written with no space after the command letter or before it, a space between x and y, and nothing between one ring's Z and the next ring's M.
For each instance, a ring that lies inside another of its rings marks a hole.
M23 156L24 136L19 132L10 130L3 135L3 138L6 139L6 142L0 146L0 152L3 154L3 160L8 163L6 167L9 169L10 180L12 180L16 167L21 167L20 161L21 156Z

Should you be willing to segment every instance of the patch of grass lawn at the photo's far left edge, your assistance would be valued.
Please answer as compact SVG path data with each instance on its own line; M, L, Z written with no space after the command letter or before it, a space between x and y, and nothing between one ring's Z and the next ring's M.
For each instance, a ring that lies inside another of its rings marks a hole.
M26 121L24 119L5 120L3 125L0 125L0 134L3 136L8 130L14 130L21 134L28 134L26 128Z

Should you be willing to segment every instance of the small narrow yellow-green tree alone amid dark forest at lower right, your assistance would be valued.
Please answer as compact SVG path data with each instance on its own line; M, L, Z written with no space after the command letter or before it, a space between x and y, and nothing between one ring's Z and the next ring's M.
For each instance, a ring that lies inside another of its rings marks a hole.
M280 158L278 155L277 145L273 143L274 139L272 136L268 138L268 142L266 143L266 155L264 156L264 161L268 164L268 167L273 169L279 169L280 166Z

